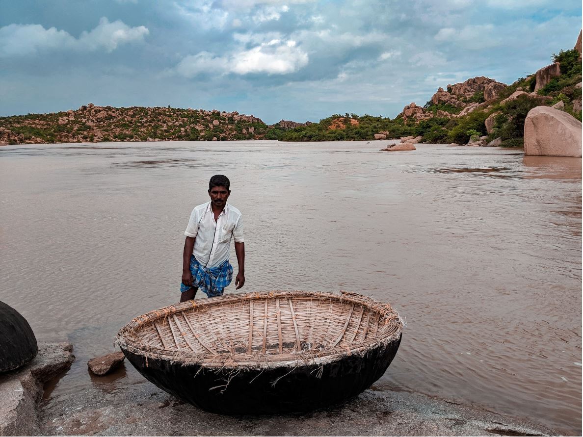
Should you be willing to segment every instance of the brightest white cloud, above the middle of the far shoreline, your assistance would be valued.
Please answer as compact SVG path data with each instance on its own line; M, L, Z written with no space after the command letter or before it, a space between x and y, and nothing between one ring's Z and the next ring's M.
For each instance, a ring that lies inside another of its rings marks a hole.
M308 55L296 46L296 41L276 39L224 57L209 52L190 55L178 63L175 71L185 77L205 73L286 75L298 71L307 64Z

